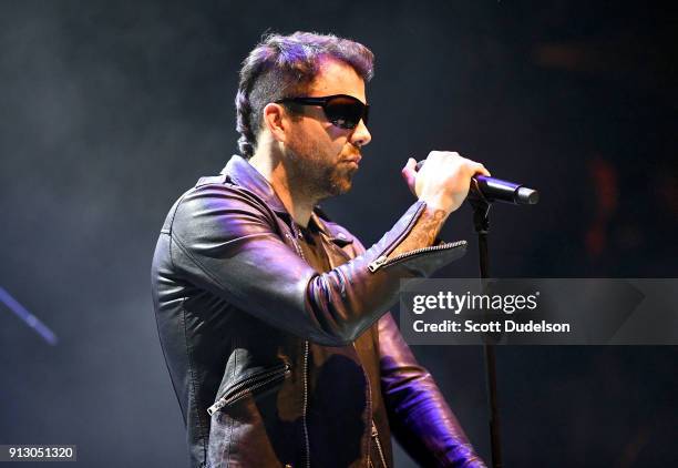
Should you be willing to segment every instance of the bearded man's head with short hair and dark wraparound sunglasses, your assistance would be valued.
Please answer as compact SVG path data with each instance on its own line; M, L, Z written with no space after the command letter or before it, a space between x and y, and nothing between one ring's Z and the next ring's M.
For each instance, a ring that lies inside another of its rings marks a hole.
M243 156L266 146L289 165L309 195L346 192L358 169L359 149L370 141L364 119L355 126L337 119L337 110L341 113L350 99L325 108L289 99L345 94L357 100L348 110L359 111L367 103L364 82L372 77L372 52L347 39L307 32L267 35L240 70L236 110Z

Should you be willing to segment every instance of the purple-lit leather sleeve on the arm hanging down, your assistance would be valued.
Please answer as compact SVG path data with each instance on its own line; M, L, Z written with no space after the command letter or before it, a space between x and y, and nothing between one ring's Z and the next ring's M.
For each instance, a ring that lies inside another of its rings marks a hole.
M484 468L429 372L419 365L391 314L379 321L381 389L389 425L424 467Z

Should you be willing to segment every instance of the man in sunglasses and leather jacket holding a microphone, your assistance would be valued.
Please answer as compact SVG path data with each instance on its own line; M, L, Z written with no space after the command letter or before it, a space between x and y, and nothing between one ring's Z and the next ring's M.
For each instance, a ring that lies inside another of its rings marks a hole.
M402 173L418 201L366 251L315 208L348 191L370 142L361 44L268 35L236 98L240 155L172 207L154 305L194 467L483 467L388 308L464 243L436 241L487 174L433 152Z

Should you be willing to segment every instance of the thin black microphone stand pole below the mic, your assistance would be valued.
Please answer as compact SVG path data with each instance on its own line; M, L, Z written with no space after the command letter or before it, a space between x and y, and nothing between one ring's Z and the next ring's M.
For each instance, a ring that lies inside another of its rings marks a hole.
M472 182L473 183L473 182ZM477 194L477 195L476 195ZM487 232L490 232L490 207L492 202L482 196L482 193L469 194L469 203L473 207L473 225L477 233L477 247L480 253L480 273L483 291L485 279L490 277L490 257L487 255ZM492 448L492 467L501 468L502 448L500 440L500 417L496 401L496 357L494 345L485 342L485 380L487 385L487 406L490 413L490 444Z

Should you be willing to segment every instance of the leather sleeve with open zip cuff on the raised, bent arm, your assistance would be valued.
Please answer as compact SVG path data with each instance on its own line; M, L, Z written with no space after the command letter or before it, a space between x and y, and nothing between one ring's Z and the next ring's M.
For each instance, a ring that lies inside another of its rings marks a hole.
M407 238L424 207L414 203L362 255L318 274L282 241L289 233L279 231L259 199L235 185L203 185L176 205L170 224L172 264L185 281L269 325L341 346L396 302L400 278L429 276L464 253L465 244L450 244L370 271Z

